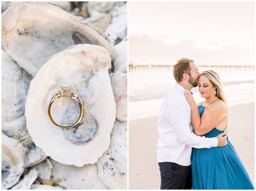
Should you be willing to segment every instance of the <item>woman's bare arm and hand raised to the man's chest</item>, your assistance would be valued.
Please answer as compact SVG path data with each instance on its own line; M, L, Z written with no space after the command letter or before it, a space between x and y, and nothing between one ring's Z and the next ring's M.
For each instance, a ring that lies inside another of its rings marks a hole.
M195 104L195 100L191 92L186 89L184 95L191 107L191 123L195 134L206 134L207 132L215 128L226 117L228 108L224 102L214 102L211 107L207 107L204 110L203 116L200 117L197 105Z

